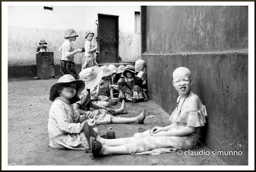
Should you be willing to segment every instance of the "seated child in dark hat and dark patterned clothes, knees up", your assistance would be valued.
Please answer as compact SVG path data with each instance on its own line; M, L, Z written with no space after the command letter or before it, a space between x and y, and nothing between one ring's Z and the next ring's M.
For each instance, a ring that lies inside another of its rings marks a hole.
M134 66L127 65L125 71L123 71L123 76L125 78L118 80L118 89L120 89L118 99L132 101L133 98L136 98L137 101L147 101L147 94L142 89L143 81L141 78L135 76Z

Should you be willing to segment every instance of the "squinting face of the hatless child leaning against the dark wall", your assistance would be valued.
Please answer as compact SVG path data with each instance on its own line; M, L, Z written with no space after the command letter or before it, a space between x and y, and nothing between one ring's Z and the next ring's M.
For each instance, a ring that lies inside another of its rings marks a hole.
M172 84L180 95L186 95L191 89L192 79L187 71L178 71L174 74Z

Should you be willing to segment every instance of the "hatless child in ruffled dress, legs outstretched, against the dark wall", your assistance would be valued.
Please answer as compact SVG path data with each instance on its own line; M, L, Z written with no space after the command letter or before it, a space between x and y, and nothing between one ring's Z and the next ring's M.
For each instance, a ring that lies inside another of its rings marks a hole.
M170 116L172 124L155 126L132 138L90 138L93 156L101 154L160 154L179 149L191 149L198 143L201 126L206 123L206 107L191 91L192 78L189 69L175 69L173 86L179 93L177 108ZM89 137L89 136L88 136Z

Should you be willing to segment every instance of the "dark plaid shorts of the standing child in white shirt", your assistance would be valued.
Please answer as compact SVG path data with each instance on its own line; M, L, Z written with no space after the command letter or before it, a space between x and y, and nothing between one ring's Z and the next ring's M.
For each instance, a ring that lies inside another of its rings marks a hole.
M75 63L72 61L60 60L60 73L71 74L75 79L79 79L77 72L75 71Z

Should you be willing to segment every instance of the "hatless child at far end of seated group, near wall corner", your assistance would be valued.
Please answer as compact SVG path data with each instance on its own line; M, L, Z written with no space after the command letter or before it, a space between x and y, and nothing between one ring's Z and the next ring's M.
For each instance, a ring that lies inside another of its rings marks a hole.
M145 92L147 92L147 76L146 73L144 73L144 68L146 67L146 62L143 61L143 59L139 59L135 62L135 73L140 78L142 78L142 88Z

